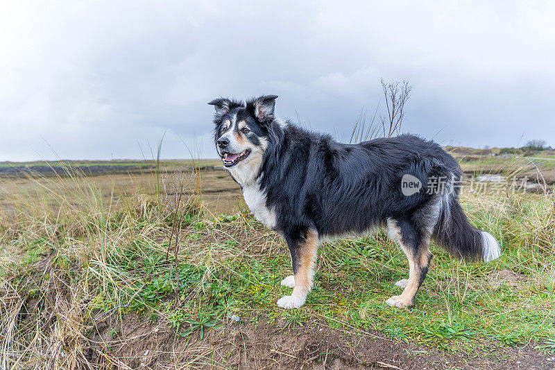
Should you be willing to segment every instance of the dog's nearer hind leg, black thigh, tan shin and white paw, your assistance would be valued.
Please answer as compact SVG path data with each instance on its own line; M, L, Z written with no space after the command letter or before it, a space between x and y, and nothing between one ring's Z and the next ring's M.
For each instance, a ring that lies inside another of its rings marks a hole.
M418 288L422 285L428 272L432 253L429 251L429 235L427 230L418 229L408 220L388 220L389 234L399 242L409 259L409 279L399 280L395 285L403 287L400 296L392 296L386 303L398 308L413 305Z

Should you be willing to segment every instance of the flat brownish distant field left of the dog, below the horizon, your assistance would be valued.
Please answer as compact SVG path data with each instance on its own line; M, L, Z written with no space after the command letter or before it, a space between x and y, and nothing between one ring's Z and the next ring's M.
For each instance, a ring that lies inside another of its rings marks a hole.
M173 180L177 172L192 174L200 168L203 201L211 212L230 212L241 203L239 185L223 171L220 160L163 160L162 178ZM157 172L155 161L68 161L0 163L0 205L13 207L7 197L15 190L38 196L46 188L64 187L71 192L88 182L109 202L141 190L154 195ZM75 177L75 176L77 177ZM76 195L77 197L77 195ZM57 197L51 197L53 205Z

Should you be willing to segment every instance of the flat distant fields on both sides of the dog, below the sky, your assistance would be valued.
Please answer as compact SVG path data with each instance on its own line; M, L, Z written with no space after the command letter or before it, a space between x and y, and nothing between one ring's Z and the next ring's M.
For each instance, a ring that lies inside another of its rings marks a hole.
M468 177L479 174L505 174L519 178L528 176L531 181L538 183L545 180L548 185L555 183L555 160L503 158L456 152L453 154ZM175 177L176 173L193 174L195 167L200 169L200 193L210 212L232 212L238 205L244 206L239 185L223 171L220 160L160 162L160 170L164 174L162 177L165 176L167 180ZM37 192L44 192L46 188L61 186L67 192L71 192L85 179L90 186L99 190L103 200L108 203L110 199L133 194L137 189L154 195L156 172L157 163L153 160L1 162L0 205L8 209L13 208L8 198L16 190L24 191L30 196L38 196ZM78 174L78 178L71 174ZM55 206L56 203L56 196L53 196L51 205Z

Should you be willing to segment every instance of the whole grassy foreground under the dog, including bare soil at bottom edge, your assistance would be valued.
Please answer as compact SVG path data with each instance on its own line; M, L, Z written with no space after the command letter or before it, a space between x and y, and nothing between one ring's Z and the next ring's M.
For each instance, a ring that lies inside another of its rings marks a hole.
M555 366L552 195L463 192L502 257L434 247L408 310L384 303L408 264L382 232L324 244L279 309L287 245L222 171L8 179L0 202L1 369Z

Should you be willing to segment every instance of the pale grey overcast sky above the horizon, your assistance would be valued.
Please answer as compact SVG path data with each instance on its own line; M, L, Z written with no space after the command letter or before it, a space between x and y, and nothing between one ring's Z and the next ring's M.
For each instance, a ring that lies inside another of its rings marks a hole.
M218 96L348 141L380 78L413 86L405 132L555 146L553 1L0 4L0 160L150 158L164 132L214 158Z

